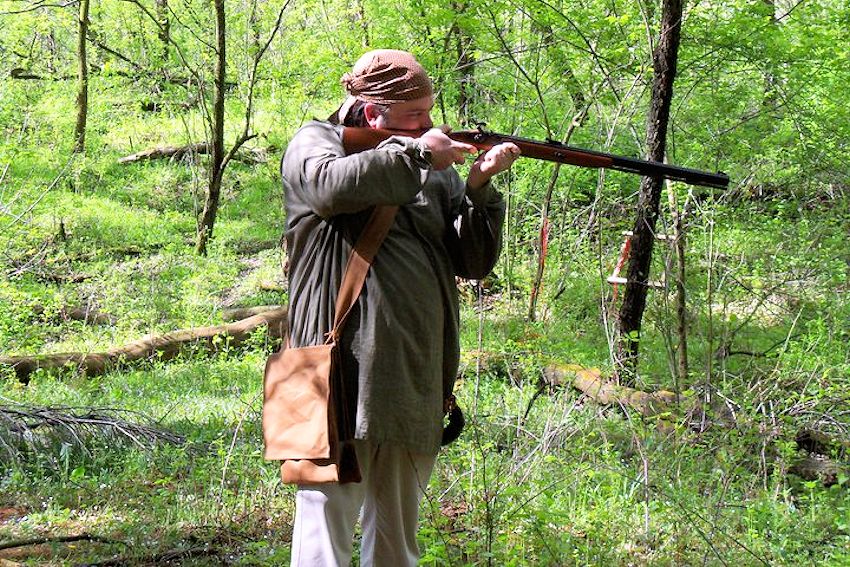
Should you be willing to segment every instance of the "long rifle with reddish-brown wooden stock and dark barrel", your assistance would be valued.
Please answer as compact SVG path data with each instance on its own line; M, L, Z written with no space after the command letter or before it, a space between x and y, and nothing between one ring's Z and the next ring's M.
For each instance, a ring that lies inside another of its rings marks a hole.
M380 128L346 127L343 130L342 143L345 151L350 154L372 149L391 136L412 135L413 137L418 137L424 133L424 131L409 132L383 130ZM663 177L674 181L683 181L691 185L704 185L719 189L725 189L729 186L729 176L722 172L710 173L657 161L646 161L594 150L585 150L552 140L541 142L528 138L509 136L507 134L496 134L480 127L477 130L449 132L447 136L457 142L473 145L482 151L489 150L502 142L513 142L519 147L520 155L523 157L580 167L615 169L627 173Z

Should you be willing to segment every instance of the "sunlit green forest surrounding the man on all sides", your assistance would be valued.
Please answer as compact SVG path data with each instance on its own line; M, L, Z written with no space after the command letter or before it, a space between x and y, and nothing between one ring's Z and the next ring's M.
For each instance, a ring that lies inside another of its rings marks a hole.
M0 0L0 566L288 564L280 160L374 48L730 180L496 179L421 564L850 565L850 4Z

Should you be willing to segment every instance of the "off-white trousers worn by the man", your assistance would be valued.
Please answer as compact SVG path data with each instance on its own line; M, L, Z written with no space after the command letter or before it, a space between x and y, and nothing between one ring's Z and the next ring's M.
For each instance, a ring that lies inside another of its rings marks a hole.
M419 501L436 455L357 442L363 481L302 485L295 494L293 567L348 567L358 512L363 567L416 565Z

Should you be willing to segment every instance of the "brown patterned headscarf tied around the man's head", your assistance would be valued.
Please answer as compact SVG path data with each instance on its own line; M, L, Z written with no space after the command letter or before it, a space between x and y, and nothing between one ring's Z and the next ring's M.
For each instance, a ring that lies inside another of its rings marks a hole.
M396 104L434 94L428 73L413 54L398 49L376 49L364 53L350 73L342 76L348 99L338 111L345 120L358 100Z

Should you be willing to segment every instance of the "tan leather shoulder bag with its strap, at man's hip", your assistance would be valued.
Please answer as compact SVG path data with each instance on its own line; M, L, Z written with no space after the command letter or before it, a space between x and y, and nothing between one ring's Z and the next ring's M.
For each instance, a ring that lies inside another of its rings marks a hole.
M376 207L354 245L342 278L334 327L323 345L290 348L266 362L263 377L265 458L281 461L281 478L292 484L360 482L351 444L353 420L340 372L337 340L366 280L398 207Z

